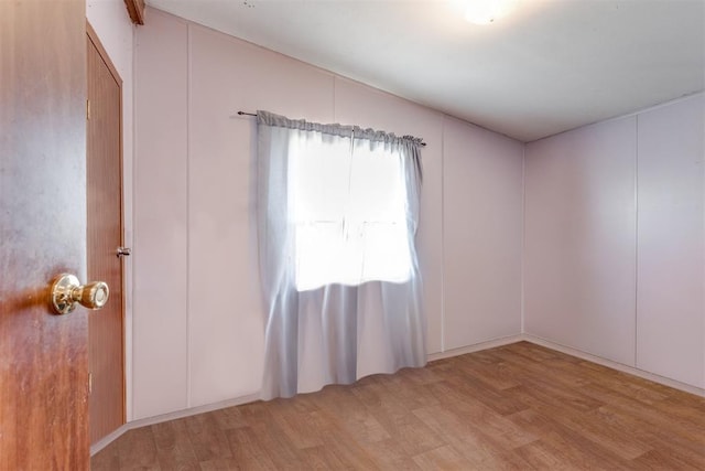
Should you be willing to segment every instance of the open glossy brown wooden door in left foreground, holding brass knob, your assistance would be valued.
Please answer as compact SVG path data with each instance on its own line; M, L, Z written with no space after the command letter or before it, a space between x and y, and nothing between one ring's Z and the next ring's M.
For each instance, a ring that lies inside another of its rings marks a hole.
M86 281L86 7L0 1L0 469L85 470L87 312L55 315L52 278Z

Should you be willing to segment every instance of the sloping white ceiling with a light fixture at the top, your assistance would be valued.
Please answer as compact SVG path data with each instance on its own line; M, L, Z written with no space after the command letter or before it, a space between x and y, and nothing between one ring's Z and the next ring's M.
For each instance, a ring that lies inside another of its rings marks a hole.
M518 0L484 26L462 2L148 0L522 141L705 88L705 0Z

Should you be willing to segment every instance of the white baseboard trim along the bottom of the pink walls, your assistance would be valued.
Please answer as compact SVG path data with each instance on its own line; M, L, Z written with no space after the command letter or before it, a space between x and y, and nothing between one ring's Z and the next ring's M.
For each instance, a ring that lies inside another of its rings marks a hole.
M612 370L617 370L622 373L628 373L633 376L638 376L644 379L652 381L654 383L662 384L664 386L672 387L674 389L684 390L690 394L694 394L696 396L705 397L705 389L692 386L690 384L681 383L675 379L671 379L664 376L659 376L653 373L644 372L643 370L636 368L633 366L628 366L621 363L614 362L611 360L603 358L600 356L595 356L589 353L582 352L579 350L571 349L570 346L561 345L558 343L551 342L545 339L541 339L531 334L517 334L509 335L499 339L494 339L487 342L480 342L468 346L462 346L459 349L452 349L445 352L437 352L427 355L429 362L435 362L437 360L449 358L453 356L465 355L467 353L479 352L482 350L495 349L497 346L509 345L517 342L530 342L536 345L545 346L546 349L555 350L556 352L565 353L566 355L575 356L582 360L586 360L588 362L597 363L598 365L607 366ZM118 439L122 433L131 430L133 428L145 427L154 424L161 424L167 420L181 419L184 417L195 416L197 414L209 413L212 410L224 409L226 407L241 406L243 404L253 403L259 400L259 394L250 394L247 396L240 396L232 399L221 400L219 403L207 404L198 407L191 407L183 410L176 410L174 413L162 414L160 416L147 417L143 419L132 420L122 425L120 428L115 430L112 433L109 433L105 438L98 440L90 447L90 456L96 454L98 451L106 448L112 441Z

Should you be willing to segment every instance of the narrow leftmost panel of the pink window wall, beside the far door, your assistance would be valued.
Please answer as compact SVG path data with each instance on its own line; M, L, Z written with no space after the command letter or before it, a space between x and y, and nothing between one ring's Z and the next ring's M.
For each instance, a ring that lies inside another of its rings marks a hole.
M134 419L188 407L189 387L188 30L149 20L135 42Z

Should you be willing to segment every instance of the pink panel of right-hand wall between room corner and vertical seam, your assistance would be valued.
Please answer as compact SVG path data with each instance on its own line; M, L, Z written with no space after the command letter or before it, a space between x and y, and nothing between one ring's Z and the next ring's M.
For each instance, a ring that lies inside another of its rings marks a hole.
M524 330L634 363L636 119L525 150Z

